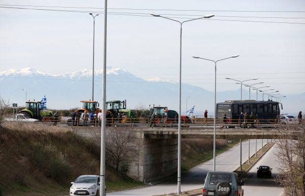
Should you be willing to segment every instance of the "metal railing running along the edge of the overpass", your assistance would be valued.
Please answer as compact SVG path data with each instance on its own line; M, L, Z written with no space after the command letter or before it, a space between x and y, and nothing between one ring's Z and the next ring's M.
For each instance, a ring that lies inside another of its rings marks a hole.
M101 120L99 119L88 119L84 121L81 118L75 118L72 120L69 117L45 117L42 119L43 123L58 125L58 126L101 126ZM216 126L218 128L263 128L263 127L275 127L275 128L285 128L292 126L304 126L304 121L301 123L289 123L284 122L279 119L227 119L225 122L223 119L216 119ZM151 120L147 118L127 118L123 117L118 118L106 118L106 126L145 126L145 127L177 127L178 119L169 119L169 118L156 118ZM190 119L181 119L182 127L201 127L208 128L214 126L214 118L190 118Z

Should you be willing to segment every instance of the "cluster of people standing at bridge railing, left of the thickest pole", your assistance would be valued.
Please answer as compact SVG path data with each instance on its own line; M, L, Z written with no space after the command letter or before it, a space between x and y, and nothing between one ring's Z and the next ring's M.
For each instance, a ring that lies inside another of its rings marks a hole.
M81 111L72 111L71 112L71 119L72 119L72 125L73 126L79 126L80 119L83 120L83 126L101 126L102 122L102 111L99 111L98 114L94 113L93 111L91 113L87 113L84 111L81 113ZM89 123L88 123L89 121Z

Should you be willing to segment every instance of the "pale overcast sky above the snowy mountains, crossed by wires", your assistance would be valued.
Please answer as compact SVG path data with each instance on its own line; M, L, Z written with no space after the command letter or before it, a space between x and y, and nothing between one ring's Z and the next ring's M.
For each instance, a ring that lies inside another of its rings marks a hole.
M90 12L99 13L95 69L102 68L104 1L1 0L0 4L0 71L92 70ZM149 13L180 21L215 15L182 25L182 83L214 91L214 62L192 55L215 61L239 55L217 63L217 91L240 89L228 77L259 78L244 83L264 81L253 87L270 86L282 95L305 92L305 1L108 1L107 66L144 79L178 81L179 23Z

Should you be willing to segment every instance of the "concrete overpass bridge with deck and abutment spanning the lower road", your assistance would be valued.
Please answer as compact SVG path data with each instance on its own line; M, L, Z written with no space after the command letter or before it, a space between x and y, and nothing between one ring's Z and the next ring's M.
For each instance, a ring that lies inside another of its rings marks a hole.
M136 135L136 155L129 164L128 175L138 181L154 181L177 172L178 128L170 127L124 127ZM101 127L72 127L77 134L90 137L99 133ZM111 131L107 127L106 131ZM281 139L297 138L303 134L300 127L282 128L217 128L217 139ZM181 138L212 139L214 128L188 127L181 129ZM250 155L252 156L252 155ZM239 157L236 157L239 159Z

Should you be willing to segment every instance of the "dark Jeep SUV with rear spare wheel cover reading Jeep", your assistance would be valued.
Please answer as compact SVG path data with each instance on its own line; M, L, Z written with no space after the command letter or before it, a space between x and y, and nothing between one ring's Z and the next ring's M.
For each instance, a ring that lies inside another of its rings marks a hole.
M242 196L243 181L234 172L208 172L202 189L202 196Z

